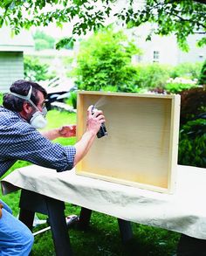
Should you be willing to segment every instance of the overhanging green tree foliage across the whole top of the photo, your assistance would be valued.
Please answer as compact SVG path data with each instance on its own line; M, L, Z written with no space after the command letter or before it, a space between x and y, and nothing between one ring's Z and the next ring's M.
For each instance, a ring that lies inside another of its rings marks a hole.
M95 31L105 25L108 17L117 17L122 25L157 24L154 33L175 33L179 45L187 49L190 34L202 33L198 45L206 45L206 1L199 0L2 0L0 26L8 24L18 33L31 26L58 26L69 23L72 35ZM114 8L116 6L116 8ZM148 39L151 35L148 35ZM64 45L64 40L58 47ZM71 43L73 40L71 40Z

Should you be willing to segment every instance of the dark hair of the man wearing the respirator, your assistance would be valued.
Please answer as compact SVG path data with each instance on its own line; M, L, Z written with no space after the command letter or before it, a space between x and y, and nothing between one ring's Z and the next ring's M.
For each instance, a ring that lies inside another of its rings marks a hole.
M39 86L38 83L27 80L17 80L10 86L10 92L26 96L29 93L31 86L31 101L35 105L38 105L38 91L43 93L45 98L47 97L45 88ZM20 112L23 109L24 101L25 100L17 98L16 96L8 93L3 96L3 107L8 108L12 111Z

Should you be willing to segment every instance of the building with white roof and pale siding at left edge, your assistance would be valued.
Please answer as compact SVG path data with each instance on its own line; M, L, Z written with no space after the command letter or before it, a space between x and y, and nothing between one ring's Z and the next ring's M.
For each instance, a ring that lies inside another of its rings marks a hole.
M12 36L8 27L0 29L0 93L7 93L15 80L24 79L24 51L33 47L29 31Z

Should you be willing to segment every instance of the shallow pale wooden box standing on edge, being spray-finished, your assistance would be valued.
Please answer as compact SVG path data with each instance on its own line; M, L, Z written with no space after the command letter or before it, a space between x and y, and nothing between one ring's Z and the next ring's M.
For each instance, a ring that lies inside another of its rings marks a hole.
M90 105L103 110L108 136L96 139L76 173L172 193L177 166L180 95L79 92L77 137Z

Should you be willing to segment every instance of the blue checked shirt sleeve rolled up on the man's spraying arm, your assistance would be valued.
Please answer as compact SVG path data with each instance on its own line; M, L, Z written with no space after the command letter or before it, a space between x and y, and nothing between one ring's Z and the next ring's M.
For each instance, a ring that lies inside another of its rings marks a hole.
M17 123L5 135L10 136L7 156L28 161L57 171L73 168L76 149L73 146L62 146L41 135L26 122Z

